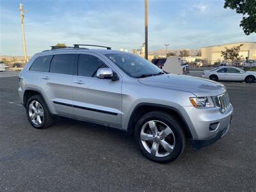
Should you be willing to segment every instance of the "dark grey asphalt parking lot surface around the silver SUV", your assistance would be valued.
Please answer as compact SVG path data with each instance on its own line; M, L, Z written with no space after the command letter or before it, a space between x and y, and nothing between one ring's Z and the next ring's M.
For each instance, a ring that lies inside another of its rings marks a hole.
M255 191L256 86L225 85L234 106L227 135L195 152L187 145L173 163L158 164L115 129L64 118L34 129L20 105L17 74L0 74L0 191Z

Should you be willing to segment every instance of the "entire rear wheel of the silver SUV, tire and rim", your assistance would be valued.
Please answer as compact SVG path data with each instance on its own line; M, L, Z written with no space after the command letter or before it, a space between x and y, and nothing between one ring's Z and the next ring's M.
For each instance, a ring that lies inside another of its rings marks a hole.
M26 104L26 113L29 123L36 129L45 129L54 124L54 118L41 95L29 97Z

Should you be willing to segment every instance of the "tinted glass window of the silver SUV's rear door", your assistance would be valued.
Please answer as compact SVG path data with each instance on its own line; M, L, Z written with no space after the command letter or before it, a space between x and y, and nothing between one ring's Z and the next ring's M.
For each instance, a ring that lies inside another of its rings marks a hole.
M72 75L76 54L56 54L52 58L50 72Z

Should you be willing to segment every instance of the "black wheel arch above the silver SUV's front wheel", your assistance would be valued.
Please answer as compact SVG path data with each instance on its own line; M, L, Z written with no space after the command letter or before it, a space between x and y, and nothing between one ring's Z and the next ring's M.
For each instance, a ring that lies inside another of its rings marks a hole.
M135 124L140 119L140 117L151 111L163 111L172 114L173 116L176 116L180 124L182 125L183 131L186 134L186 138L193 138L189 130L188 124L182 113L180 113L179 109L173 108L171 106L165 106L163 104L152 104L146 102L138 104L132 111L127 125L127 131L129 132L129 134L132 134L132 132L134 131Z

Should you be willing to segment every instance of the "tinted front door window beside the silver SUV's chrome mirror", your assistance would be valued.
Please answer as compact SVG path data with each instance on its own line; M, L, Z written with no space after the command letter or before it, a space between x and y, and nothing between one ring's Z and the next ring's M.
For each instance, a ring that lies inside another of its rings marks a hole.
M99 58L90 54L80 54L78 60L78 76L95 77L98 68L108 67Z

